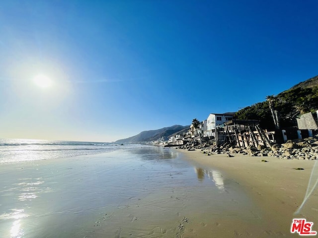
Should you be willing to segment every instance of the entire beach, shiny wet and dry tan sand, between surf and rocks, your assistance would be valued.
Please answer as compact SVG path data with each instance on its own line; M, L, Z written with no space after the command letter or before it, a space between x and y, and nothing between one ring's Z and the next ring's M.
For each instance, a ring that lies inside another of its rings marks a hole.
M146 147L2 164L0 237L293 237L314 161L259 159ZM299 216L315 231L317 211L315 191Z

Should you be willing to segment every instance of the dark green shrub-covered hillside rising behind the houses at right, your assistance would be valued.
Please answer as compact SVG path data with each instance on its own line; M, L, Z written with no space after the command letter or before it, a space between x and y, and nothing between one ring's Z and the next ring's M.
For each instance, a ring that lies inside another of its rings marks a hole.
M281 127L297 125L296 118L304 113L318 110L318 76L296 84L272 98L272 106L277 110ZM237 119L260 120L262 128L274 128L268 101L245 107L236 113Z

